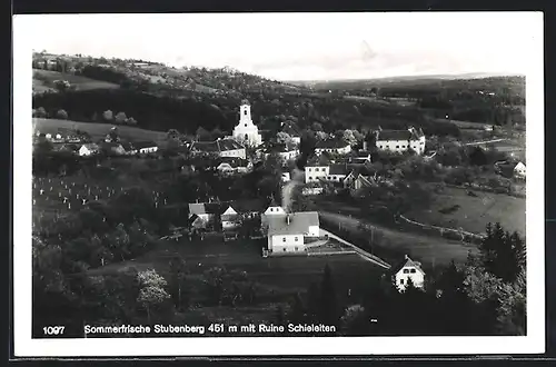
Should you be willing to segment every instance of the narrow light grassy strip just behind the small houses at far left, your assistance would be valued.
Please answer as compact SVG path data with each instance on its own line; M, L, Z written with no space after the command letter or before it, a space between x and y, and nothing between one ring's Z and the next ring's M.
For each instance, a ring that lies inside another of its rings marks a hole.
M79 122L71 120L57 120L57 119L39 119L33 118L33 130L39 130L44 133L57 133L59 129L79 129L87 131L93 139L103 138L110 129L115 126L111 123L101 122ZM119 126L120 137L127 140L152 140L161 142L166 140L166 132L145 130L130 126Z

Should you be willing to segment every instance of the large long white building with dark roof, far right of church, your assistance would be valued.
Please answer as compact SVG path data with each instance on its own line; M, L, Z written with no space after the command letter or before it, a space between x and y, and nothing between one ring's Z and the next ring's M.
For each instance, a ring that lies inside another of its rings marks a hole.
M416 153L423 155L425 151L425 135L423 130L410 127L407 130L383 130L376 131L377 149L404 152L409 148Z

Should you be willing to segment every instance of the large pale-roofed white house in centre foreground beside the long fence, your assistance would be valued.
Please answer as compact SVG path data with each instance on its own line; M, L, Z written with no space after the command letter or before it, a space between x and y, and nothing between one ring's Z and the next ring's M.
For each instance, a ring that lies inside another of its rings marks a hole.
M317 211L267 216L269 255L304 254L307 237L319 237Z

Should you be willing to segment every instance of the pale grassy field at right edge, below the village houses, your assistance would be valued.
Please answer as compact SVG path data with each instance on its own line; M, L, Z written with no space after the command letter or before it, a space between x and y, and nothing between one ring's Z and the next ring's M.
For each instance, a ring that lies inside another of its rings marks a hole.
M484 232L487 222L499 221L505 229L525 235L526 199L493 192L475 194L477 197L470 197L464 189L446 188L435 197L428 210L410 211L406 217L428 225L461 227L476 234ZM439 211L453 206L459 208L450 214Z

